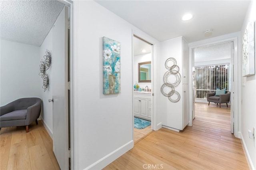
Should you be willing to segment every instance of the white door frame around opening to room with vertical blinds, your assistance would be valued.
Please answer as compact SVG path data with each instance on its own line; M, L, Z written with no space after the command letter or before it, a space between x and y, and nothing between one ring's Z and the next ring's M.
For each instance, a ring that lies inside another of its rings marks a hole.
M239 101L241 101L241 61L239 60L240 57L240 33L236 32L236 33L232 33L232 34L227 34L224 36L219 36L216 38L210 38L207 40L202 40L199 42L194 42L194 43L189 43L189 74L191 76L189 76L189 111L190 111L190 118L189 118L189 126L193 125L193 83L192 83L192 68L194 67L194 49L198 48L198 47L205 47L205 46L209 46L209 45L214 45L217 43L224 43L224 42L233 42L234 44L234 49L233 49L233 65L234 68L232 68L234 71L234 75L238 75L238 76L233 76L234 77L234 88L232 89L233 95L234 95L234 112L233 114L231 113L231 117L234 117L234 136L237 138L240 138L240 128L241 126L241 103ZM239 55L238 55L239 54ZM232 60L232 59L231 59ZM232 63L231 63L232 66ZM239 90L240 89L240 90ZM231 120L230 120L231 121Z

